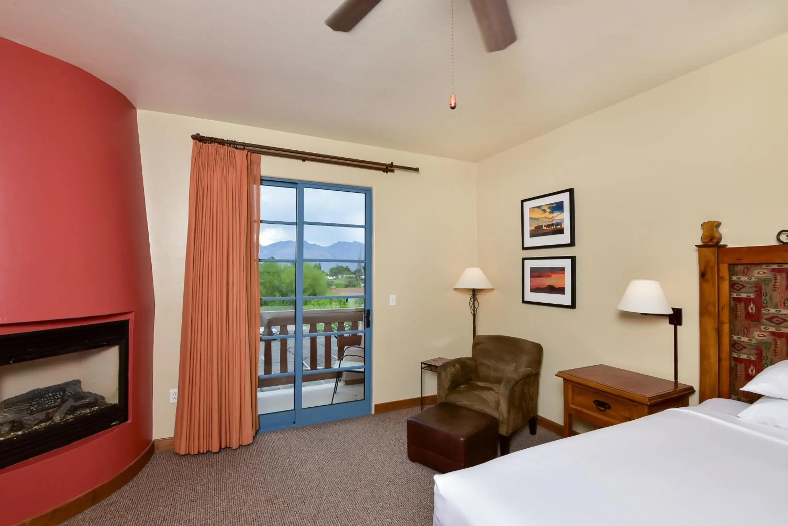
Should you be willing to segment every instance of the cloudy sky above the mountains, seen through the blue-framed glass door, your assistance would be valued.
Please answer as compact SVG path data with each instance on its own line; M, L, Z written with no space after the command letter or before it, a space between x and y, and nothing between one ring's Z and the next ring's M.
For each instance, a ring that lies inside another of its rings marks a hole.
M338 192L318 188L304 188L304 221L364 224L365 195L357 192ZM260 187L260 215L263 220L296 221L296 188ZM364 242L364 229L334 226L304 226L304 241L324 247L337 241ZM260 245L277 241L296 241L296 227L261 225Z

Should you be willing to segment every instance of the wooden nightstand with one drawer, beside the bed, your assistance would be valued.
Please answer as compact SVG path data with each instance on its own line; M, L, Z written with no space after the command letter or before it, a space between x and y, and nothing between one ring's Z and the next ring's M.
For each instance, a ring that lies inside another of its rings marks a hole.
M563 436L572 431L572 417L611 426L689 405L693 386L641 375L608 365L559 371L563 378Z

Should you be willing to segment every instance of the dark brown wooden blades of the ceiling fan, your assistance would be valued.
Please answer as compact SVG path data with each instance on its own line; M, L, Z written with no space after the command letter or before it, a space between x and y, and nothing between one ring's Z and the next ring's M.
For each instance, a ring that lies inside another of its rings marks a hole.
M325 20L334 31L348 32L355 28L381 0L344 0ZM488 53L506 49L517 40L506 0L470 0L476 23Z

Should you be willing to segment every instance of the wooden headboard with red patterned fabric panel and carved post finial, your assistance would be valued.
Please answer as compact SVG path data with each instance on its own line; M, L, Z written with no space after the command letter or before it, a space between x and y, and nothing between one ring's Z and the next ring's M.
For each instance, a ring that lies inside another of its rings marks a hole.
M701 401L753 401L738 388L788 359L788 245L728 247L719 222L697 245L701 283Z

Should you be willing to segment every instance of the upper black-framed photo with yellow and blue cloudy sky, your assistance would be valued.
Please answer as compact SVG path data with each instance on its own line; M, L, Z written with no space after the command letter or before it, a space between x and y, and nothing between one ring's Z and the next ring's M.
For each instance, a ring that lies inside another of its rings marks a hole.
M574 188L520 201L522 249L574 247Z

